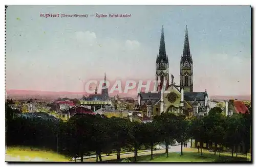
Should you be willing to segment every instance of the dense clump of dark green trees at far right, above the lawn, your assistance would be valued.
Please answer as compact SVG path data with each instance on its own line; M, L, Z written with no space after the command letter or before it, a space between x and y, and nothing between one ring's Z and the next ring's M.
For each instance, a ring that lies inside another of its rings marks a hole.
M249 152L251 139L251 114L237 114L224 116L219 107L212 108L207 116L191 121L191 137L196 140L196 147L202 148L206 144L207 149L218 150L219 153L231 149L243 153ZM199 144L198 144L199 143ZM213 146L214 144L214 146ZM217 146L219 148L217 149ZM229 148L229 149L228 149Z

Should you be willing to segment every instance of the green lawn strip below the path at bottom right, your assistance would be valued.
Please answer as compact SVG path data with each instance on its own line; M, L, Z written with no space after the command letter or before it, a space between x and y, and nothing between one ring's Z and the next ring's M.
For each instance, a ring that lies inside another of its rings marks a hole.
M128 158L130 161L134 161L134 157ZM122 159L121 159L122 160ZM116 160L113 160L116 161ZM112 161L112 162L113 162ZM180 153L169 153L169 157L166 157L166 154L154 154L153 160L151 160L151 155L140 156L138 157L139 162L226 162L226 161L246 161L245 157L231 157L227 155L214 155L212 153L201 153L196 152L183 152L183 155Z

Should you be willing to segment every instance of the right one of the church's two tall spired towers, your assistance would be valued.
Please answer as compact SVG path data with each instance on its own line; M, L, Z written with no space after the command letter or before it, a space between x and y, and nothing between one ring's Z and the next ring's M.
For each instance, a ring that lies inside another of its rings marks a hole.
M184 92L193 92L193 61L189 49L187 26L180 60L180 85L184 87Z

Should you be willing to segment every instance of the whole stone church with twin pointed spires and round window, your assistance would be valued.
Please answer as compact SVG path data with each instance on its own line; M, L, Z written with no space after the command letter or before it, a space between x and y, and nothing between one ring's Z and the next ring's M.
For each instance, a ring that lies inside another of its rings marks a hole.
M169 76L171 81L169 82ZM138 105L146 110L146 116L152 118L162 112L172 112L186 116L206 115L209 112L209 98L206 89L193 91L193 60L189 49L187 26L183 54L180 59L180 84L174 83L169 75L169 61L165 52L164 31L161 30L159 54L156 58L156 92L138 93Z

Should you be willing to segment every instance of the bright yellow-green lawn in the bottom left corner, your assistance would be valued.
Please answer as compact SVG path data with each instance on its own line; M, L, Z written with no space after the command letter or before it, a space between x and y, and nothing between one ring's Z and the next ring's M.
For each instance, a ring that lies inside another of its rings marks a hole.
M69 158L48 149L37 149L29 147L7 147L6 161L67 162L69 161Z

